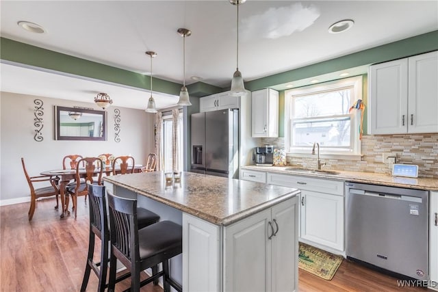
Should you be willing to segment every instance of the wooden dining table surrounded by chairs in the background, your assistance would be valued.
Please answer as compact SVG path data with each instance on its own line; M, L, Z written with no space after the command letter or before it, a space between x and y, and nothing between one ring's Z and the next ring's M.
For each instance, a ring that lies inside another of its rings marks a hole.
M133 172L140 172L143 165L136 164L133 166L134 171ZM131 170L132 166L128 168L128 170ZM116 165L116 174L120 174L120 167ZM99 168L96 168L94 170L95 173L100 172ZM112 167L105 167L103 168L103 173L105 173L107 176L110 176L113 173ZM83 178L86 177L87 171L85 168L79 168L79 177ZM62 206L62 213L61 218L63 218L65 215L68 215L70 212L67 210L66 207L66 186L68 183L70 183L71 180L75 179L76 177L76 170L44 170L40 172L40 175L42 176L57 176L60 178L59 181L59 187L60 187L60 197L61 197L61 206Z

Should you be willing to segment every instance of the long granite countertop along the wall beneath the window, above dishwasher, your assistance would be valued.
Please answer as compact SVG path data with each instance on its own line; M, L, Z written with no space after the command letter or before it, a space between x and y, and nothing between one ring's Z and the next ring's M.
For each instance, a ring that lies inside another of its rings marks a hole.
M437 178L407 178L400 176L391 176L389 174L378 174L374 172L346 172L342 170L336 170L337 172L339 172L339 174L324 174L324 173L310 174L310 173L300 173L300 172L292 172L290 170L285 170L286 168L291 166L292 165L287 165L287 166L248 165L248 166L242 166L241 168L246 170L276 172L280 174L329 178L337 181L351 181L353 183L370 183L374 185L389 185L391 187L407 187L410 189L425 189L428 191L438 191Z

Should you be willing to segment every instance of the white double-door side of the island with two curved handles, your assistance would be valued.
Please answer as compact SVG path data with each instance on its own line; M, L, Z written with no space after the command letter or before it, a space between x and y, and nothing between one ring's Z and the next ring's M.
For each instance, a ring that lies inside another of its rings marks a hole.
M224 291L298 289L298 198L225 227Z

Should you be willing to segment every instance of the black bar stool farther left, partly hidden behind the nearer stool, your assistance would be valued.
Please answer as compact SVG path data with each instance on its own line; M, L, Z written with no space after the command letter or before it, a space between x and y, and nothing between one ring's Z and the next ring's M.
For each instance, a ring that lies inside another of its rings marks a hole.
M93 270L99 278L97 291L103 292L108 286L106 283L108 270L108 248L110 242L110 229L107 217L107 202L105 198L105 187L103 185L88 184L88 196L90 197L90 239L88 243L88 255L86 269L83 274L81 291L86 291L90 271ZM143 208L138 208L138 226L143 228L159 221L159 215ZM101 261L94 263L94 242L96 237L101 239ZM152 274L158 272L158 266L152 267ZM129 278L130 273L124 274L116 279L116 282ZM154 282L158 284L158 280Z

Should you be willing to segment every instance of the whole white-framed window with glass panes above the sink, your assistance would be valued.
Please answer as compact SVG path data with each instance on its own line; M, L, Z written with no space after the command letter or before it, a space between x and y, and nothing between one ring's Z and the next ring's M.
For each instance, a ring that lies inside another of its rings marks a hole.
M322 157L361 157L362 77L351 77L285 92L285 148L294 156L311 155L314 142ZM355 158L353 158L355 159ZM356 158L357 159L357 158Z

